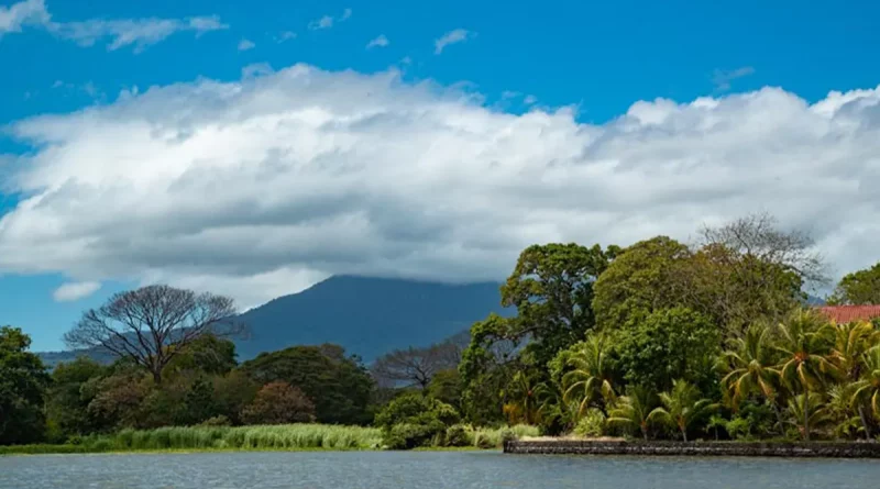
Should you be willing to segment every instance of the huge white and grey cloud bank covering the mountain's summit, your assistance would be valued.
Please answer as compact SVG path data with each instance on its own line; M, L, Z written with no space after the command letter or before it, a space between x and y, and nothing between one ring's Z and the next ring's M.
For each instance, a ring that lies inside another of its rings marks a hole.
M689 240L769 211L837 274L877 262L880 87L524 114L397 71L295 66L15 122L0 273L156 280L253 305L333 274L499 279L527 245ZM124 141L125 144L118 144Z

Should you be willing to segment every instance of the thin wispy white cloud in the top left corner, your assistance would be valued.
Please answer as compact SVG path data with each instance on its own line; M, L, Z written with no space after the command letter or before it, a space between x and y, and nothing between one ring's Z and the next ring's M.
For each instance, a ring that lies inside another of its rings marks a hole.
M217 16L55 22L43 0L25 0L9 8L0 7L0 36L6 32L21 32L24 25L44 29L80 46L92 46L99 41L107 41L109 51L134 46L135 53L177 32L191 31L196 36L200 36L206 32L229 29L229 25L221 23Z

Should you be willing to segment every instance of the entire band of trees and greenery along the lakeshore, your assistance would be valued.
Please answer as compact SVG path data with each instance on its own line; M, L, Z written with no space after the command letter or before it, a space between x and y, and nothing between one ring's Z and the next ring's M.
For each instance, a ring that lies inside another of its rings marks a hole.
M80 357L50 371L21 330L0 330L0 445L875 440L880 319L836 323L811 305L804 290L825 287L825 269L807 235L763 214L704 227L690 244L534 245L501 287L515 315L371 365L337 345L239 363L229 338L246 325L230 299L144 287L65 335L112 353L110 365ZM827 302L879 304L880 264L846 275Z

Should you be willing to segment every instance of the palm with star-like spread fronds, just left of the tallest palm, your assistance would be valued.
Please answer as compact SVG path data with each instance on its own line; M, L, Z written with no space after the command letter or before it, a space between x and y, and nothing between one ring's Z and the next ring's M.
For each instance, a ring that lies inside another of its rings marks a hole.
M776 358L770 334L767 324L752 324L745 335L734 341L732 349L722 354L723 368L727 373L722 386L730 397L734 411L754 392L763 396L768 402L776 402L779 375L773 370Z

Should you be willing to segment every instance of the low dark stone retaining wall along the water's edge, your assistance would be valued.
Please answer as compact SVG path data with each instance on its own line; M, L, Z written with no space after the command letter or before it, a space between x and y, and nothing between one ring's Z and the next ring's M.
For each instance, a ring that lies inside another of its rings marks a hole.
M509 454L543 455L674 455L746 457L880 458L880 443L862 442L622 442L514 440Z

